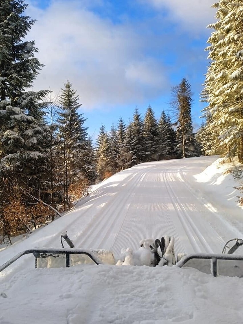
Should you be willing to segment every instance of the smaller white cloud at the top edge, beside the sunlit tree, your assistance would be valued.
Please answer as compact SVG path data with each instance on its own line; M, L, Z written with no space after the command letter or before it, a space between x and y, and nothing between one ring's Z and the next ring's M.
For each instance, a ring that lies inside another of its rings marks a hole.
M169 10L169 17L192 32L202 32L214 22L216 0L139 0L158 10Z

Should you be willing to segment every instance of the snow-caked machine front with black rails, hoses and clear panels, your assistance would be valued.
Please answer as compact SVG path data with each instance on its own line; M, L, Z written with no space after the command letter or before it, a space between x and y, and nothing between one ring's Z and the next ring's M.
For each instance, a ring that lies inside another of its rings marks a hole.
M64 248L63 239L70 248ZM235 242L233 245L231 242ZM192 267L213 276L226 275L243 277L243 255L232 255L243 240L234 238L229 240L221 254L175 254L174 237L165 236L161 239L143 239L138 250L123 249L121 257L115 260L113 253L107 250L75 249L67 232L61 234L62 248L35 248L25 250L0 267L0 272L17 259L26 254L33 254L36 268L70 267L77 264L112 264L112 265L146 265L162 267L165 265L176 267Z

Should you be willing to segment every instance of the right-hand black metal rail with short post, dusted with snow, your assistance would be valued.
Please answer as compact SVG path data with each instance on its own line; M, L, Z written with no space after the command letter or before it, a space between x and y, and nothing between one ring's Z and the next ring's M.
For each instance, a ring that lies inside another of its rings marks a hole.
M186 263L193 259L206 259L211 260L211 273L214 277L218 276L218 260L235 260L235 261L243 261L243 256L241 255L232 255L232 254L205 254L205 253L197 253L197 254L189 254L184 256L179 262L177 262L176 266L182 268L186 266Z

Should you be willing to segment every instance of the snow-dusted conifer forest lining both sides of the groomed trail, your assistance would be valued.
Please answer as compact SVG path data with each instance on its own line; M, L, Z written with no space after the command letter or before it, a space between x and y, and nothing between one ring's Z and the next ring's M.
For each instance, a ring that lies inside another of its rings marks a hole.
M243 162L243 0L214 5L198 130L190 80L182 78L158 119L150 105L144 116L132 107L128 122L121 116L110 130L101 123L97 138L72 80L57 97L30 90L43 65L35 41L26 40L35 23L27 7L0 2L0 235L10 243L60 217L96 181L136 164L213 154Z

